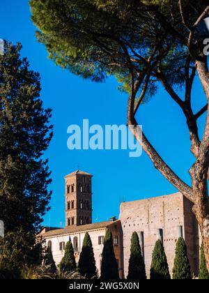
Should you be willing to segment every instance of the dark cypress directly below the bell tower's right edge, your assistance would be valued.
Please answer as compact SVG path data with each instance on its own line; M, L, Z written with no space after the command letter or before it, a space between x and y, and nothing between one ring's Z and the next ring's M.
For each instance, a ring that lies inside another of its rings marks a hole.
M93 246L91 242L91 237L86 233L84 237L82 253L79 258L79 273L91 279L97 276L97 268L95 266L95 257L93 253Z

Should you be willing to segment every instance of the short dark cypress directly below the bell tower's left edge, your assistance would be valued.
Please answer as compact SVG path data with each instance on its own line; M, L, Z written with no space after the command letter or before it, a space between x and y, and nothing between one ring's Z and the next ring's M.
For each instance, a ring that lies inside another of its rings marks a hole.
M59 264L59 269L63 273L70 273L76 270L75 255L71 241L65 246L65 255Z

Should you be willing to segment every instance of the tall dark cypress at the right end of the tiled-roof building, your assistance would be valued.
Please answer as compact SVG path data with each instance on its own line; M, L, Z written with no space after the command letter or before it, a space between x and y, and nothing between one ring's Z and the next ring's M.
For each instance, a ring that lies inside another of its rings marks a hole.
M104 248L102 251L102 266L101 276L102 280L118 280L118 264L114 254L113 238L111 230L107 229L104 237Z

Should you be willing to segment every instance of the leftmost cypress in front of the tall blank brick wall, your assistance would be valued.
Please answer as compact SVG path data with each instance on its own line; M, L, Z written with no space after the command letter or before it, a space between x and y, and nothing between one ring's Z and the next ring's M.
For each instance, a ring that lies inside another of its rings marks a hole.
M127 280L146 280L145 264L137 232L132 234Z

